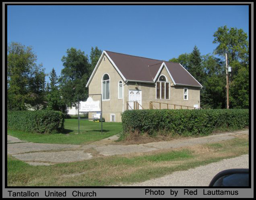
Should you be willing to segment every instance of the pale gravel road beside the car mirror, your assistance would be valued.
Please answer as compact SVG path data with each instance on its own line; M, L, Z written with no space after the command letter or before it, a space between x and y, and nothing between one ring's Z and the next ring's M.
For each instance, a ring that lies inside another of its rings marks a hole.
M208 186L220 171L233 168L249 168L249 155L224 159L186 171L178 171L161 178L118 186Z

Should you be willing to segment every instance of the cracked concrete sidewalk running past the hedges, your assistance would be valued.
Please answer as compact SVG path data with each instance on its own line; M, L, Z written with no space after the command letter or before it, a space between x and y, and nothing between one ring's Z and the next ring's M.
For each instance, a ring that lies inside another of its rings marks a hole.
M21 141L7 135L7 153L23 160L30 165L52 165L55 163L74 162L93 158L92 153L103 156L122 155L135 152L148 152L161 149L174 149L196 144L219 142L236 138L236 135L248 135L249 131L229 132L198 138L176 139L166 142L151 142L146 144L113 145L117 136L92 142L88 145L45 144ZM18 143L17 143L18 142Z

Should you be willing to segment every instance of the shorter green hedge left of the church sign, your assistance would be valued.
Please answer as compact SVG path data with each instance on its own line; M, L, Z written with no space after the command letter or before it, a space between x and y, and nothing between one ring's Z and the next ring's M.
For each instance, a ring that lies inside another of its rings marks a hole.
M8 111L7 128L36 132L56 133L64 129L64 115L59 111Z

